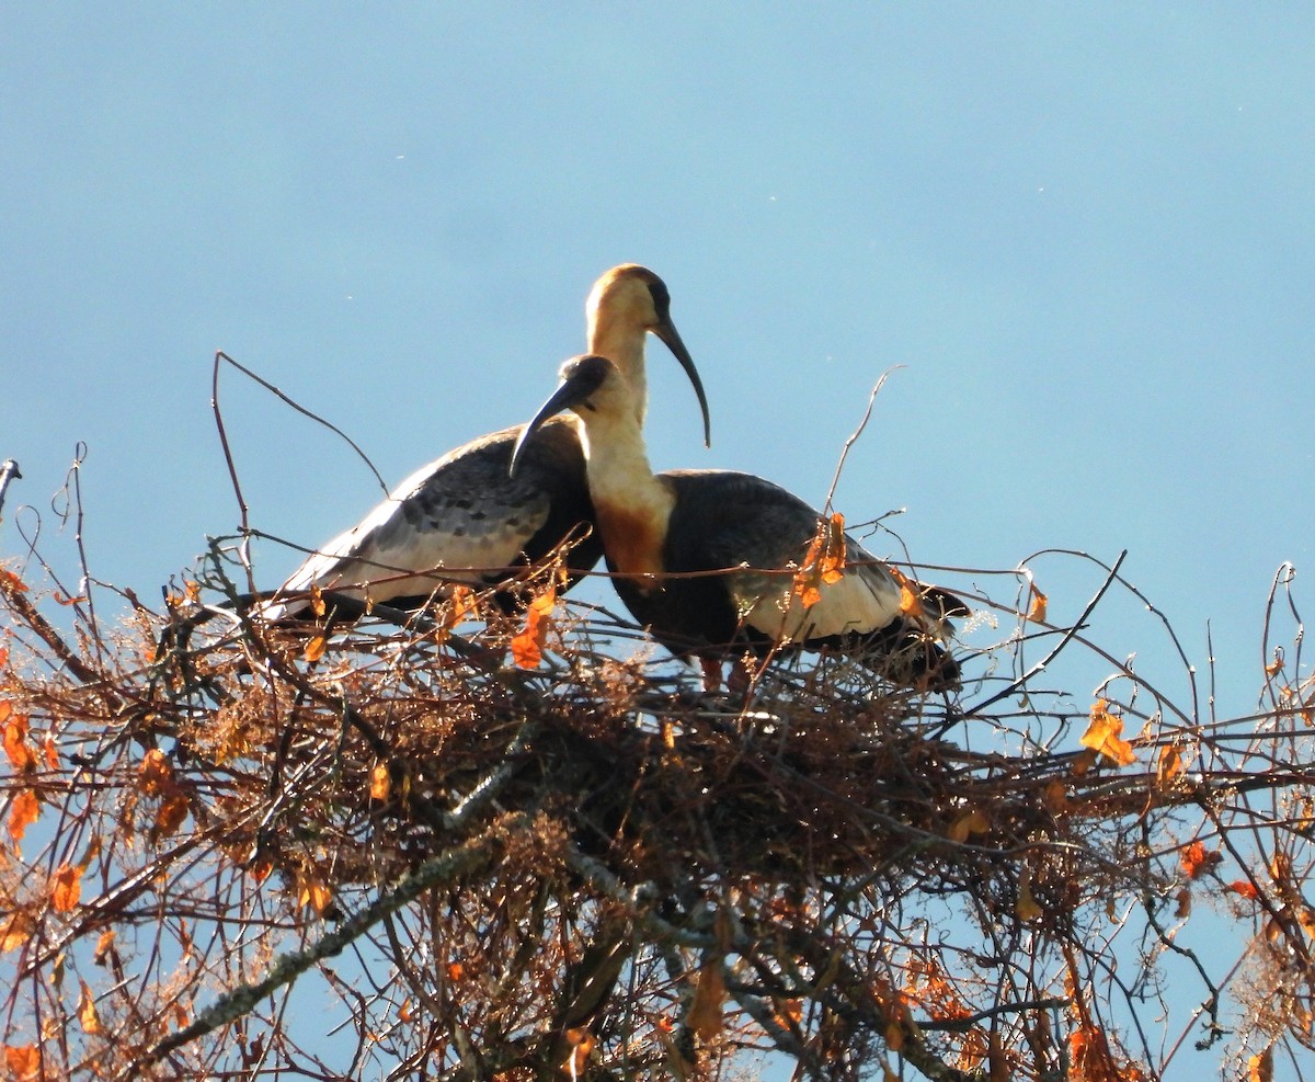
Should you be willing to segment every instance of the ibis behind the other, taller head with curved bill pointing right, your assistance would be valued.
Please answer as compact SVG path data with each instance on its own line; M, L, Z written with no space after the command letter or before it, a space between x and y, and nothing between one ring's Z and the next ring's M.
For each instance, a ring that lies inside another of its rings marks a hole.
M704 440L710 420L704 384L671 317L671 295L646 267L623 263L604 274L585 305L589 349L608 357L630 388L636 426L647 407L644 340L656 334L698 396ZM509 473L512 450L519 467ZM267 619L304 611L313 587L356 600L414 608L452 583L496 586L563 542L568 580L602 554L585 479L579 425L563 417L523 438L522 428L483 436L421 467L358 525L310 555L283 584ZM295 596L293 596L295 595ZM510 596L498 595L508 608Z

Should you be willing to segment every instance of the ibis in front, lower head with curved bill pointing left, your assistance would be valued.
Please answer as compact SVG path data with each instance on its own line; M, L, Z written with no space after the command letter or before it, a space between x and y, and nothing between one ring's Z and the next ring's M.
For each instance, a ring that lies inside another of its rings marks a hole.
M957 684L959 666L936 640L948 634L948 616L967 615L963 602L915 583L923 604L910 612L901 579L847 536L842 573L821 580L806 604L794 573L818 512L753 474L654 474L634 391L605 357L562 367L562 384L522 430L514 475L534 434L563 411L584 426L589 495L617 592L672 653L700 658L710 686L727 657L801 648L844 650L898 683Z

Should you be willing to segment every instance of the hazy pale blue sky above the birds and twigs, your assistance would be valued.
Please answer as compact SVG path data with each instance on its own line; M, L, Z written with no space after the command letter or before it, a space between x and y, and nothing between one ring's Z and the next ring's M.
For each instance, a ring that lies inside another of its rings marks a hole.
M158 596L238 521L216 349L396 482L526 419L638 261L713 405L705 451L655 342L658 467L821 502L905 365L848 519L907 507L924 563L1128 548L1245 709L1315 533L1312 57L1302 5L5 4L0 554L25 502L72 567L49 500L85 441L92 569ZM256 527L314 545L377 499L231 373L224 403ZM259 549L270 586L297 562ZM1056 619L1098 583L1039 570ZM1103 612L1185 687L1137 605Z

